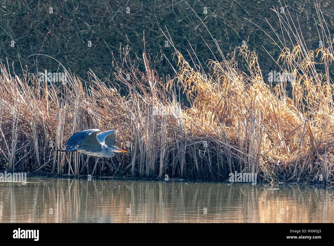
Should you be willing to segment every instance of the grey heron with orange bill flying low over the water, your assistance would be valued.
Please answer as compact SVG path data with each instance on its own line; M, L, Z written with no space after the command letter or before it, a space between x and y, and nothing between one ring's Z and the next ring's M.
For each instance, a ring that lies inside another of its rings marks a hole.
M66 142L65 149L57 151L69 152L78 151L91 156L113 157L114 152L125 152L114 146L117 130L99 133L99 129L89 129L74 133ZM77 147L76 147L77 146Z

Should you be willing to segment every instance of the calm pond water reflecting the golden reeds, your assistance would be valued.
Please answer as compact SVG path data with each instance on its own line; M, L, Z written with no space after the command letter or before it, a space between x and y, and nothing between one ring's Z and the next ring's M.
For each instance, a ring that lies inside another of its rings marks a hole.
M334 193L288 184L27 178L0 182L5 222L333 222Z

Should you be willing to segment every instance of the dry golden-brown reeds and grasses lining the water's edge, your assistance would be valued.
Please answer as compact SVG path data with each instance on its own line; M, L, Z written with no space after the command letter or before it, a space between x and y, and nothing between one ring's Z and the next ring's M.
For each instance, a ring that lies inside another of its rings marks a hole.
M257 173L258 182L333 184L331 36L320 21L324 45L308 50L298 24L275 12L284 35L273 40L281 50L275 61L280 70L269 84L247 45L226 60L215 41L221 57L212 53L201 64L193 53L186 61L168 32L177 61L170 77L154 69L145 51L130 58L129 47L114 58L113 82L92 70L83 81L65 68L66 83L41 82L27 68L16 75L1 63L0 170L221 181L237 172ZM247 71L239 70L234 57L240 56ZM55 151L73 133L91 128L118 130L115 145L130 153L98 159Z

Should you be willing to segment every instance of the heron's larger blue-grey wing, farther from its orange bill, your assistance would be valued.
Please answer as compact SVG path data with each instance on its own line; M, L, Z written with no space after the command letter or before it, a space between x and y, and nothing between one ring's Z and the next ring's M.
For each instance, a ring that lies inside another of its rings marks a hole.
M100 144L96 135L99 129L89 129L82 132L74 133L66 142L65 150L71 150L75 148L77 145L87 145L87 143L91 144ZM92 135L92 136L91 136ZM87 139L88 138L88 139ZM95 138L95 139L94 139ZM89 145L91 145L89 144Z

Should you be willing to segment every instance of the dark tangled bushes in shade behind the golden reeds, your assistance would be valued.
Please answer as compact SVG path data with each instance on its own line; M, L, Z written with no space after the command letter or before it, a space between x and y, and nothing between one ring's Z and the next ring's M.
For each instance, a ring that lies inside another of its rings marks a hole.
M308 49L319 47L316 28L319 21L313 0L286 3L274 0L187 2L206 24L227 58L230 56L227 54L241 46L242 40L245 40L249 50L258 53L265 73L276 68L265 49L275 59L279 55L279 49L260 28L244 18L256 23L275 39L267 20L281 35L278 17L271 8L280 9L282 4L289 10L295 24L298 15ZM333 3L321 0L318 4L329 31L334 33ZM53 8L53 13L49 13L50 7ZM130 8L130 14L126 13L127 7ZM207 8L206 14L203 13L204 7ZM161 53L170 61L174 53L172 47L165 47L166 38L159 29L165 31L165 26L175 47L186 58L189 58L188 51L193 55L189 43L202 65L207 59L213 58L203 39L218 54L203 24L182 0L1 0L0 60L7 63L7 58L10 67L14 62L14 69L18 74L22 73L20 60L23 68L27 65L28 72L43 72L44 69L56 72L60 67L54 60L42 56L28 58L31 54L46 54L59 60L65 68L69 67L72 73L85 80L89 69L101 79L112 79L115 71L112 52L115 57L119 57L120 50L129 45L132 58L137 59L137 54L142 59L145 31L146 53L159 61L156 69L163 76L172 74L173 70L165 59L161 59ZM15 42L14 47L10 46L12 40ZM88 47L89 41L92 42L92 47ZM291 48L291 44L289 45ZM221 59L219 55L216 57ZM172 64L175 65L175 62ZM239 66L243 66L242 64L240 62Z

